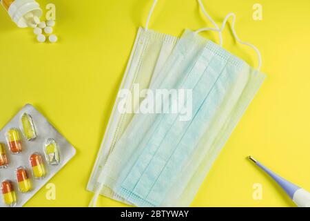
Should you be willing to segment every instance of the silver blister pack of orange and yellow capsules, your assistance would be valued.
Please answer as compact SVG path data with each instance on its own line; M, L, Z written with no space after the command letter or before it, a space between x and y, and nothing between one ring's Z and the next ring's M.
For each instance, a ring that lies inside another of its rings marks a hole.
M34 106L25 105L0 131L0 207L23 206L75 152Z

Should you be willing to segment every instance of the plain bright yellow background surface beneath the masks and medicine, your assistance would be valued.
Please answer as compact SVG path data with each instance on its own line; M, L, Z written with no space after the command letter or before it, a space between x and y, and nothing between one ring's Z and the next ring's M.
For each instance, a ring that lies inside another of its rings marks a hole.
M26 206L87 206L85 190L138 26L152 0L38 0L56 5L57 44L38 44L0 10L0 126L26 103L34 104L76 147L74 159ZM203 1L218 23L236 12L241 39L260 48L267 79L203 183L192 206L293 206L274 182L246 159L254 155L283 177L310 190L309 0ZM263 7L254 21L254 3ZM211 26L196 0L159 0L150 28L180 36L184 28ZM218 42L216 34L203 34ZM224 47L257 65L229 28ZM0 179L1 171L0 171ZM262 200L253 200L254 183ZM99 206L123 206L99 198Z

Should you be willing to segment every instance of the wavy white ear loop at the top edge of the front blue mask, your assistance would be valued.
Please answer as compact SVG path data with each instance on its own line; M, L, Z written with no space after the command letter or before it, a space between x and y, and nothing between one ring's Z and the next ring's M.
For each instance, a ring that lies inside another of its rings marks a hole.
M203 32L203 31L206 31L206 30L213 30L213 31L216 31L216 32L223 32L224 28L225 28L225 25L227 23L227 20L229 19L229 17L233 17L233 21L231 22L231 30L233 32L233 35L234 35L234 38L236 39L236 41L238 41L240 44L243 44L245 46L249 46L251 48L253 48L256 52L256 54L258 55L258 68L257 70L260 70L260 68L262 67L262 55L260 54L260 50L258 50L258 48L256 48L256 46L254 46L253 44L249 44L248 42L245 42L245 41L241 41L236 33L236 30L235 30L235 23L236 23L236 15L234 13L229 13L223 23L222 23L222 27L220 29L218 28L200 28L198 30L196 30L196 34L198 34L199 32Z

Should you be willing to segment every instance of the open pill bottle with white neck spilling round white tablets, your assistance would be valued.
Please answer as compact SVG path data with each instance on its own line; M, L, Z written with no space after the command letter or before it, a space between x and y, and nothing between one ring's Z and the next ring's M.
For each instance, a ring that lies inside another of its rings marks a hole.
M40 23L42 10L35 0L0 0L3 7L10 15L12 21L19 28L34 28Z

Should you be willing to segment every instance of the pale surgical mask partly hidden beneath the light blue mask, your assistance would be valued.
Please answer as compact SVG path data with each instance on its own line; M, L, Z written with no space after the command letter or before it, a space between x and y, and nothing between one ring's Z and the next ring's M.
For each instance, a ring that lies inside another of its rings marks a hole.
M161 68L163 68L177 41L177 37L155 32L147 28L139 28L120 91L129 90L132 92L135 84L138 84L140 89L143 90L153 84L152 82L156 79ZM134 115L133 111L132 113L120 113L118 111L118 105L122 99L126 100L130 99L130 97L122 98L118 96L116 98L90 181L87 184L89 191L95 191L97 188L97 179L107 161L107 157L113 151L116 142ZM127 100L126 102L129 101ZM139 106L139 101L134 99L132 100L132 107L136 106ZM124 202L123 199L115 195L110 189L103 188L102 193L109 198Z

